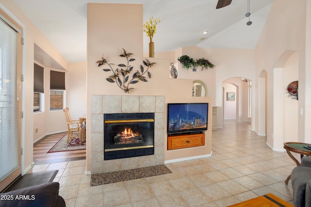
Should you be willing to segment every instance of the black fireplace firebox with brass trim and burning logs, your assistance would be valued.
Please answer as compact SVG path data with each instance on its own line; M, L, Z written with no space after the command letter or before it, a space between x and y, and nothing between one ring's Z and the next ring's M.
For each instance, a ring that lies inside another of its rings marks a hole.
M105 113L104 160L154 155L155 113Z

